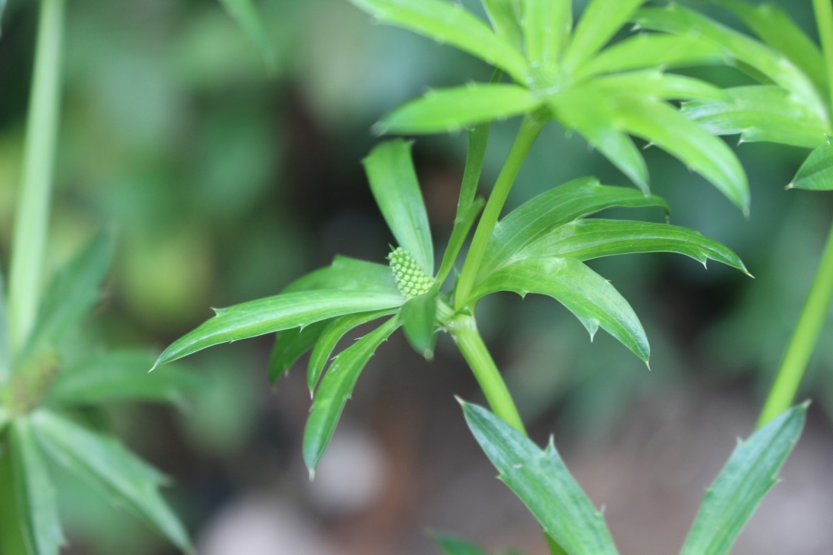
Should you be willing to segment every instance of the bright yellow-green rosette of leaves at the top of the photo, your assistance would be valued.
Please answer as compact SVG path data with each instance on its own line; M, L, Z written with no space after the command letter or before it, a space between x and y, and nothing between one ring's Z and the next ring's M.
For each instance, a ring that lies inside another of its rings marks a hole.
M571 0L482 0L491 27L444 0L351 1L381 22L479 57L514 81L430 91L385 116L377 131L445 132L521 114L551 118L584 136L647 194L636 136L748 211L746 175L734 153L668 102L724 99L706 82L665 70L721 63L725 49L693 32L642 32L606 47L646 0L591 0L575 28Z

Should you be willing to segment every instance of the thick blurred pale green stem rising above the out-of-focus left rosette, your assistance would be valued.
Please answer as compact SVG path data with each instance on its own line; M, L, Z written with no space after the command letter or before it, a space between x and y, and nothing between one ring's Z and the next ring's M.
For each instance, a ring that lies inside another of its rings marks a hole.
M37 316L52 190L64 0L41 0L9 280L9 334L17 353Z

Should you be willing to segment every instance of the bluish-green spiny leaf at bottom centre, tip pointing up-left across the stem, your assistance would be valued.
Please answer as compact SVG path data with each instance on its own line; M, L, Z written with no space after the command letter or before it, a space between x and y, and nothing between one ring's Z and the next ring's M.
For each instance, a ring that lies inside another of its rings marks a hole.
M555 445L540 448L488 410L461 401L466 423L499 478L571 555L616 555L601 512L581 490Z

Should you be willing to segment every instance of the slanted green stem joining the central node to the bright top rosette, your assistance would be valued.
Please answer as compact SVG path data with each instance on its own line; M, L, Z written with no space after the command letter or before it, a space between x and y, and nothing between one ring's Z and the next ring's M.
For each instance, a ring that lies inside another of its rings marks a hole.
M491 231L495 229L497 219L501 216L503 205L506 203L506 196L509 196L509 191L512 184L515 183L518 171L521 170L521 164L526 158L526 153L529 152L545 122L546 119L539 118L534 114L526 116L521 122L521 129L518 130L515 142L509 151L509 156L506 156L506 163L504 163L501 173L497 176L495 187L491 190L486 208L483 209L483 215L480 217L474 237L471 239L471 248L468 255L466 255L466 261L463 262L463 269L460 273L460 279L457 280L454 294L454 307L457 310L467 305L471 290L474 287L477 270L480 270L481 260L483 260L483 255L486 254L486 245L489 243Z

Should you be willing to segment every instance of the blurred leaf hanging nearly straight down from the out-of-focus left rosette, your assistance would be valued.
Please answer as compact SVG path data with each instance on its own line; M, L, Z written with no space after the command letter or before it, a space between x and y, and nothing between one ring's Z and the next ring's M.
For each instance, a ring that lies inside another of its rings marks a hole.
M17 510L22 516L23 538L31 555L57 555L64 543L57 516L55 488L47 474L42 453L35 443L30 424L17 419L12 425L7 454L12 457ZM4 492L3 503L12 500Z

